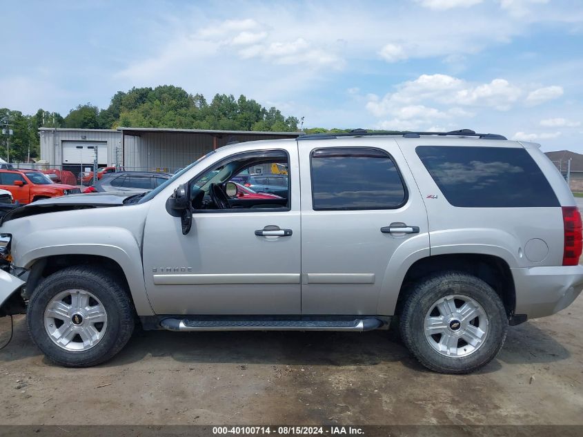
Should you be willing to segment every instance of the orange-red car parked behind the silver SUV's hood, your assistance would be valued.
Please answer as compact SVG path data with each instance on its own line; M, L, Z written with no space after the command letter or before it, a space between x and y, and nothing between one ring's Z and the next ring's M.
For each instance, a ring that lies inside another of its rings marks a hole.
M10 191L14 202L21 204L81 193L77 186L53 184L47 175L34 170L0 170L0 188Z

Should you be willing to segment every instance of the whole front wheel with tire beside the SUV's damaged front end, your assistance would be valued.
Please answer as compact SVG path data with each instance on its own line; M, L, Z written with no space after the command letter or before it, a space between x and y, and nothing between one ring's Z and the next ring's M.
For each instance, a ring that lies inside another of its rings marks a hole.
M134 329L126 289L111 273L73 266L53 273L32 293L28 329L59 365L89 367L115 356Z

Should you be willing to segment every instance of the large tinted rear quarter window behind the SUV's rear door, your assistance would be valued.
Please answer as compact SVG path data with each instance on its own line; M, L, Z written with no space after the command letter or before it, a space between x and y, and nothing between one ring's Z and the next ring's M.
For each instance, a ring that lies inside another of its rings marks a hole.
M417 146L415 150L453 206L560 206L553 188L524 148Z

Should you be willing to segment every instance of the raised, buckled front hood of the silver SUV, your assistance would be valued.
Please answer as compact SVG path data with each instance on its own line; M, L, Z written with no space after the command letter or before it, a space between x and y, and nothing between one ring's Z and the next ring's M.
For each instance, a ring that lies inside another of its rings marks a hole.
M126 200L130 195L112 195L110 193L90 193L90 194L76 194L63 197L52 197L50 199L37 200L31 204L14 208L11 205L3 217L0 218L0 226L8 220L14 220L21 217L28 217L30 215L56 213L59 211L71 211L74 209L87 208L106 208L108 206L121 206L123 200ZM3 211L0 209L0 215Z

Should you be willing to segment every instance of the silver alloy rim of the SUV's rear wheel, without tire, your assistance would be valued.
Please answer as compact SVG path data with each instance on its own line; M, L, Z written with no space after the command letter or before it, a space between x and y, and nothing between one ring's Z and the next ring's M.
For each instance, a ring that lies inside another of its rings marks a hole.
M488 336L488 317L482 305L464 295L447 295L427 311L425 338L447 357L460 358L477 351Z

